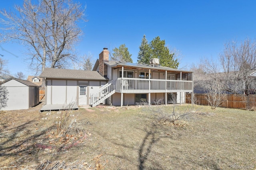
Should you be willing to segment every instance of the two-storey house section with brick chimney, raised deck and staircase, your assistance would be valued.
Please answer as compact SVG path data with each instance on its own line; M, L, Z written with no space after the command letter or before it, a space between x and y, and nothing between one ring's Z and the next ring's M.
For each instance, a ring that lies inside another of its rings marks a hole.
M104 100L114 106L134 105L140 101L151 105L160 99L168 104L173 96L177 103L185 103L186 92L193 93L193 72L159 64L110 61L107 48L100 53L93 70L109 82L91 96L91 106Z

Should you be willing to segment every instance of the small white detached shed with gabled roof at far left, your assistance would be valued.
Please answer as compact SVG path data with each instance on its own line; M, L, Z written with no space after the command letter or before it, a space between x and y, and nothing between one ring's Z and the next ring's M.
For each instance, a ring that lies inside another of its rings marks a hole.
M1 86L6 86L9 92L7 106L1 110L29 109L39 104L39 86L30 81L12 77Z

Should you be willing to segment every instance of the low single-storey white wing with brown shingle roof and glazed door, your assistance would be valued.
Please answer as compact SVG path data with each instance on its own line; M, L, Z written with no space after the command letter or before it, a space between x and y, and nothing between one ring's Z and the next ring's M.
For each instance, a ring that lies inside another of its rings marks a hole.
M90 103L90 96L107 84L108 79L97 71L44 68L45 105L40 109L58 110L72 104L73 109Z

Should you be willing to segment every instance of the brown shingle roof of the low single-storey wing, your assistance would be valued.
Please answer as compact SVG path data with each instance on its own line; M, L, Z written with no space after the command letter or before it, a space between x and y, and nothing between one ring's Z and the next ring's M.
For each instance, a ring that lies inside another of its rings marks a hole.
M69 70L61 68L44 68L40 77L79 80L108 80L102 77L97 71Z

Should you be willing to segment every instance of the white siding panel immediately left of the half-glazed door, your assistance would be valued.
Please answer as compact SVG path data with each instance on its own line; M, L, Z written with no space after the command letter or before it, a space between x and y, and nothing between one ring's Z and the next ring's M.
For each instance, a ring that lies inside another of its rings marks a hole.
M67 80L67 92L66 92L66 104L71 102L76 102L77 96L77 81L76 80Z

